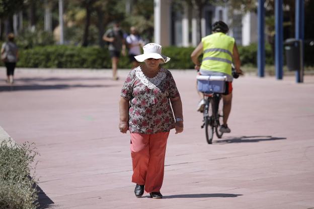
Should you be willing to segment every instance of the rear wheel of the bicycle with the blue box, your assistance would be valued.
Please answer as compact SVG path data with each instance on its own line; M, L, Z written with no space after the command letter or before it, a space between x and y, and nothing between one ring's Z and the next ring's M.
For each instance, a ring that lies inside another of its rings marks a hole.
M212 99L207 98L204 107L204 121L205 121L205 134L208 144L212 144L212 138L214 135L213 117L212 117Z

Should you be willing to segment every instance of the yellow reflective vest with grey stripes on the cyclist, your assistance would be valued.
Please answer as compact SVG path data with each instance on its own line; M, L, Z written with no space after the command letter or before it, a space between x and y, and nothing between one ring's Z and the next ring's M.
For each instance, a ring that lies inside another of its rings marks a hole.
M231 76L234 38L224 33L213 33L202 38L203 60L201 69Z

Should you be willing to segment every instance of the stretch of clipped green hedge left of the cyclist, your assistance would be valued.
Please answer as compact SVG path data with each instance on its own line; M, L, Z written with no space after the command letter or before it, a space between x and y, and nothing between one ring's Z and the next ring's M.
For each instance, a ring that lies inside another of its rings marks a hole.
M190 55L193 48L164 47L163 53L171 57L167 68L193 68ZM107 48L81 46L38 46L20 50L18 67L53 68L111 68L111 58ZM130 68L128 56L120 56L119 68Z

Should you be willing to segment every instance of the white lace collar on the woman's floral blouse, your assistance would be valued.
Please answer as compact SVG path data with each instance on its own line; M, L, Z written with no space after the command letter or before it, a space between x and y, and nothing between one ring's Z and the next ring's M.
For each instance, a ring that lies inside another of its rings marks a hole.
M165 69L161 68L159 73L155 77L148 78L143 74L140 66L138 66L135 69L135 76L137 79L139 79L142 82L142 84L147 86L148 89L153 89L156 86L160 85L167 75L166 75Z

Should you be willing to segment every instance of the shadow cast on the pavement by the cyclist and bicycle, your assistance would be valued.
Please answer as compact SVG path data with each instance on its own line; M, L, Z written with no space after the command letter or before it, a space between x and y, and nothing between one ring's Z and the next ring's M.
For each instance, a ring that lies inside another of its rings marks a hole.
M243 143L243 142L263 142L263 141L273 141L273 140L286 140L286 137L273 137L271 135L262 136L240 136L240 137L227 137L225 140L214 141L217 144L228 144L228 143Z

